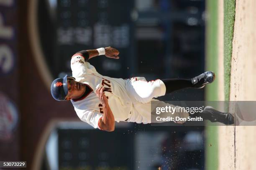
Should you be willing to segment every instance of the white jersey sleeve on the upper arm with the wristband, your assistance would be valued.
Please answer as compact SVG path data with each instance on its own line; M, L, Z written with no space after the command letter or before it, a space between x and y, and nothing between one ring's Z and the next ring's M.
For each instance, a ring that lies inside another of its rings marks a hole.
M96 72L95 67L90 65L89 62L85 61L81 54L74 54L72 56L70 66L73 77L79 77L86 73Z

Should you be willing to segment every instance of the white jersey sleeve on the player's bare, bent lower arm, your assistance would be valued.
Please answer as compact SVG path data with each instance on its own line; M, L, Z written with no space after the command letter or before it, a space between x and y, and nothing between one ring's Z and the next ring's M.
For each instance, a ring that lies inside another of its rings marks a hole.
M87 122L89 125L91 125L93 128L99 127L99 121L102 119L103 114L96 111L96 110L85 110L82 114L82 117L79 117L82 121Z

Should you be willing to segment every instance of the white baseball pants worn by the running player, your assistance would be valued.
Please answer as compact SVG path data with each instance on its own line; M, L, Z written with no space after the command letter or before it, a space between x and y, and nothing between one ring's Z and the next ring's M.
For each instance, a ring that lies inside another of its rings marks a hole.
M151 123L151 101L159 101L153 98L165 95L166 87L164 82L162 82L160 79L146 81L144 77L133 77L131 80L127 81L126 89L128 91L128 95L133 101L132 115L128 122L144 124ZM159 106L161 105L164 107L169 104L159 101ZM167 117L169 115L162 116ZM189 114L187 112L181 112L174 113L172 116L188 117ZM155 119L155 115L152 115L152 118ZM184 122L179 121L177 123Z

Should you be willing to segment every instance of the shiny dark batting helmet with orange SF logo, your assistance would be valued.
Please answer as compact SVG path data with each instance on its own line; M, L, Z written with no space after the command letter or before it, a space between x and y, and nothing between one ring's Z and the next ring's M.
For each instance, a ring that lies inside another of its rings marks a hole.
M67 75L63 78L56 78L51 83L51 95L55 100L64 101L68 93L67 79L71 78L75 80L74 77L68 77Z

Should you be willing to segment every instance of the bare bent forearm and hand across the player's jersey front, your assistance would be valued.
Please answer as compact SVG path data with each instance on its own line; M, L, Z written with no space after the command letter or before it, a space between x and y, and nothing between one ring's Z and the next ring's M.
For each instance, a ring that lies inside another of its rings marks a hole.
M103 105L103 117L99 121L99 126L101 130L112 132L115 130L115 117L108 105L108 99L105 96L103 90L104 87L100 87L96 90L96 95Z

